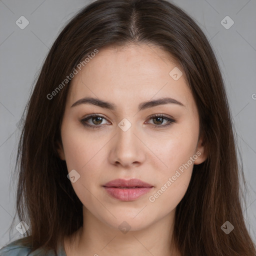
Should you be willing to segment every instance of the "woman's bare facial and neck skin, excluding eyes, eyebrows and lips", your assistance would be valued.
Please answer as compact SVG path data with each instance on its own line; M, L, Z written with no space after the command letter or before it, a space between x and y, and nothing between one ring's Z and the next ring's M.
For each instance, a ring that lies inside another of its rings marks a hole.
M193 164L203 162L205 153L198 137L197 107L184 72L178 80L169 75L177 66L156 46L131 44L100 49L73 77L58 152L68 171L75 169L80 175L71 184L83 204L84 224L74 233L74 243L65 238L67 256L180 255L169 242L175 208L185 194ZM114 103L116 109L92 104L71 107L85 96ZM138 111L142 101L166 96L183 106L168 103ZM100 128L89 128L79 121L92 113L103 118L90 118L87 123ZM163 114L175 122L163 127L168 121L150 118L153 114ZM131 123L126 131L118 126L123 118ZM181 174L166 188L168 178L197 151L200 156L179 171ZM116 178L138 178L153 188L136 200L120 201L102 187ZM164 184L165 191L149 201ZM118 228L123 221L130 226L126 233Z

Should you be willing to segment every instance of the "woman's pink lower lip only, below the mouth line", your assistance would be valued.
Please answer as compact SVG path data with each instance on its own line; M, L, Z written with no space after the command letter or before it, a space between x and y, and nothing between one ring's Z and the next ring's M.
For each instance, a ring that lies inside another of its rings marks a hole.
M121 201L132 201L148 193L152 187L119 188L103 186L107 193Z

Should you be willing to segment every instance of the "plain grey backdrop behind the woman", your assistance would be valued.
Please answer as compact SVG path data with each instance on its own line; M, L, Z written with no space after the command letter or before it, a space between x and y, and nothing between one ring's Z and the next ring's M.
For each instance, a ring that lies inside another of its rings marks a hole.
M16 123L49 47L67 20L89 2L0 0L0 247L22 237L15 227L10 236L8 232L15 212L17 179L13 184L11 174L20 135ZM256 242L256 0L173 2L196 20L217 56L248 186L244 217ZM24 29L15 24L22 15L29 21ZM220 23L227 15L234 21L229 29Z

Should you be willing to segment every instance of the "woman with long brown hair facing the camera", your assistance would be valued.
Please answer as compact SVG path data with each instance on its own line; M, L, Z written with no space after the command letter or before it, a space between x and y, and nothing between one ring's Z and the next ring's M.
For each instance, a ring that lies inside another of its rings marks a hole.
M53 43L26 110L28 235L1 255L255 255L219 67L180 8L92 2Z

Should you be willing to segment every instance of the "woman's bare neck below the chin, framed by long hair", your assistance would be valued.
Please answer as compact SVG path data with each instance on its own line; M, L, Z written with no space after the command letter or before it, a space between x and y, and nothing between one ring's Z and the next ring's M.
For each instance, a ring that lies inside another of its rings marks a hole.
M143 229L127 232L114 228L96 218L83 206L83 226L74 234L74 243L64 241L66 256L69 255L161 255L179 256L173 246L172 233L174 212ZM123 224L125 226L125 224Z

